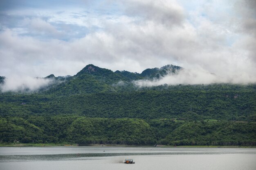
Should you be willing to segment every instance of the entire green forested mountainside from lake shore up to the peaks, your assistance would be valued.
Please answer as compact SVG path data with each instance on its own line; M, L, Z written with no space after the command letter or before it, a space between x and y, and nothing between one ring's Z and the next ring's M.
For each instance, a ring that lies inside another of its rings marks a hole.
M88 65L37 92L0 94L0 141L133 145L256 145L256 85L160 85L183 69L141 74ZM1 77L4 83L4 77Z

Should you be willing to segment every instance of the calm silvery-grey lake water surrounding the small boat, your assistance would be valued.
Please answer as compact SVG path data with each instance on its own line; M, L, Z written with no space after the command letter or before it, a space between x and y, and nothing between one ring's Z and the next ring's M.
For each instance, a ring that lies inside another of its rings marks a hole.
M256 148L0 147L0 170L131 169L256 170Z

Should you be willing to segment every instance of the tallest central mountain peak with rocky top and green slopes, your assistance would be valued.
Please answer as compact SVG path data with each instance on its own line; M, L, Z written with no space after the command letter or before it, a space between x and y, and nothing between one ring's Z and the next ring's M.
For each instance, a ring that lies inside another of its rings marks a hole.
M47 94L88 94L111 92L112 84L122 80L122 76L109 69L87 65L74 76L60 81L58 85L45 91Z

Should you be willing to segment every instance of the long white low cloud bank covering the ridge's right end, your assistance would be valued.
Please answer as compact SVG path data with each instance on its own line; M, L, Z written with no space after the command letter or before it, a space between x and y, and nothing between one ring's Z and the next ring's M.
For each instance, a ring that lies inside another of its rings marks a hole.
M232 76L218 76L202 70L181 69L177 74L169 73L159 79L154 80L138 80L133 82L138 87L151 87L158 85L208 85L212 83L232 83L243 84L256 83L256 76L252 77L247 74L239 74Z

